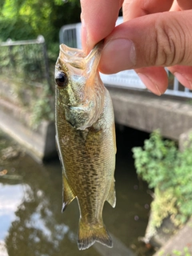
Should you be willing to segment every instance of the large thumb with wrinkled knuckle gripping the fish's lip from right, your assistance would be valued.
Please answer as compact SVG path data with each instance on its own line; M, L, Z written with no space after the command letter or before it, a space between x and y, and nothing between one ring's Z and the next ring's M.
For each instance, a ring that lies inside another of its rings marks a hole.
M147 66L192 66L192 10L149 14L106 38L99 69L112 74Z

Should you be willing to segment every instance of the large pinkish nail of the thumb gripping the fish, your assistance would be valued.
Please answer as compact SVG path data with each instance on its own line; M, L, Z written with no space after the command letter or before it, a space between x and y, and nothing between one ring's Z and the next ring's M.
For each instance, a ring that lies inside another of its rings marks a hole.
M102 50L100 68L105 73L117 73L134 67L134 43L128 39L111 39ZM109 65L110 63L110 65Z

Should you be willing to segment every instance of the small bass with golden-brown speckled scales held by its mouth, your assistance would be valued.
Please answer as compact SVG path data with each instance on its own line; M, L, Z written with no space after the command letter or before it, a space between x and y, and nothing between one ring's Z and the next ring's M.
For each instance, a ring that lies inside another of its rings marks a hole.
M55 127L62 164L62 212L77 198L78 249L113 242L102 220L107 201L116 204L114 110L98 63L103 42L90 54L60 45L55 64Z

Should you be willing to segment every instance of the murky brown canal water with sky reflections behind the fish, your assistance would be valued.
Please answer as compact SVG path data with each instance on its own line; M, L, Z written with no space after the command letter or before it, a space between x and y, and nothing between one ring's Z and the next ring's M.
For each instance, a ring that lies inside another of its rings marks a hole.
M145 138L148 134L117 129L117 206L113 209L106 203L103 210L114 249L97 243L89 250L78 251L78 204L74 200L61 213L62 173L58 159L39 165L21 154L0 162L0 171L8 171L0 176L1 256L152 255L152 250L138 242L138 237L145 234L151 198L146 183L137 178L130 151L132 146L142 146Z

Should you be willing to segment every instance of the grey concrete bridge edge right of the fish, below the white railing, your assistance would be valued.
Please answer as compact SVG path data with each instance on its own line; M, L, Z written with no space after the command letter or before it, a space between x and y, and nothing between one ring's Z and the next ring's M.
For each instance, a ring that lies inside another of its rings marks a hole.
M138 130L160 129L162 136L178 140L192 127L192 104L181 99L107 86L114 104L115 122Z

